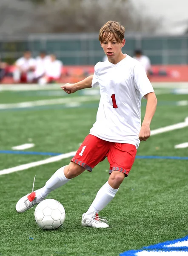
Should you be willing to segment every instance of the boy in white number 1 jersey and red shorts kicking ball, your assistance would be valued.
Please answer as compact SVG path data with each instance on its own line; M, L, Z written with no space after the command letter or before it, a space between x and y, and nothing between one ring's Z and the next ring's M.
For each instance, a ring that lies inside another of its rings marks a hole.
M71 163L58 169L43 188L23 196L17 202L17 212L25 212L85 169L91 172L94 166L107 157L110 177L98 191L88 211L83 213L82 225L108 227L98 217L98 212L114 198L122 181L128 176L140 141L150 137L150 123L157 106L153 87L142 64L122 54L124 33L125 29L120 23L108 21L99 32L99 41L108 61L95 65L94 76L76 84L61 86L66 93L74 93L99 85L101 98L97 120ZM141 97L147 99L142 127Z

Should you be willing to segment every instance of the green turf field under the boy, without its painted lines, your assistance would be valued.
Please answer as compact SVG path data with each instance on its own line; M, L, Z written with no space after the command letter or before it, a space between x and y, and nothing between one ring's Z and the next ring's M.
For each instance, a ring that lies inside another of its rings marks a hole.
M92 90L92 89L89 89ZM184 122L188 94L172 94L161 89L157 112L151 130ZM24 108L3 105L39 100L69 99L62 104ZM76 151L95 122L99 100L77 92L27 90L0 91L0 152L12 146L34 143L25 151L67 153ZM77 105L74 106L76 102ZM142 118L145 111L142 101ZM175 149L188 142L188 126L153 135L140 143L137 156L188 157L188 148ZM0 170L44 160L37 154L0 154ZM60 201L66 210L66 220L58 230L43 231L35 224L34 209L18 214L15 204L35 189L43 186L71 157L27 170L0 175L0 255L4 256L118 256L126 250L173 240L188 235L188 160L137 158L130 175L122 183L114 200L100 213L109 220L110 228L97 230L81 226L81 216L93 201L97 191L108 180L108 161L85 171L48 198Z

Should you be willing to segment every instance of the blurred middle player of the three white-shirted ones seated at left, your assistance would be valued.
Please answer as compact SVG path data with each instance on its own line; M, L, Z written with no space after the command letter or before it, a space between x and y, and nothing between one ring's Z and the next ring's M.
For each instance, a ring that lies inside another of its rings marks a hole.
M41 51L40 55L35 58L34 82L40 83L40 79L46 75L49 62L50 57L46 55L46 51Z

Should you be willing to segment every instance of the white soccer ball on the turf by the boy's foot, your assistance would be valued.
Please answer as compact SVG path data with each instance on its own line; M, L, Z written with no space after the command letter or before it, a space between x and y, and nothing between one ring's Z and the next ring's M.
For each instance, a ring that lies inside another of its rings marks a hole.
M53 230L60 227L65 221L65 209L60 202L54 199L45 199L40 202L34 211L34 218L42 229Z

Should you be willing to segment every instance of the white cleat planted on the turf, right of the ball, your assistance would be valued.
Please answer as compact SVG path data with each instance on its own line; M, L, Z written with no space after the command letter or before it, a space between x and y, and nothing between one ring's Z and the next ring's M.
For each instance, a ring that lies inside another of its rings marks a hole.
M95 228L107 228L109 227L107 222L103 217L99 217L98 214L93 214L91 216L85 216L85 213L82 215L82 226L85 227L95 227Z

